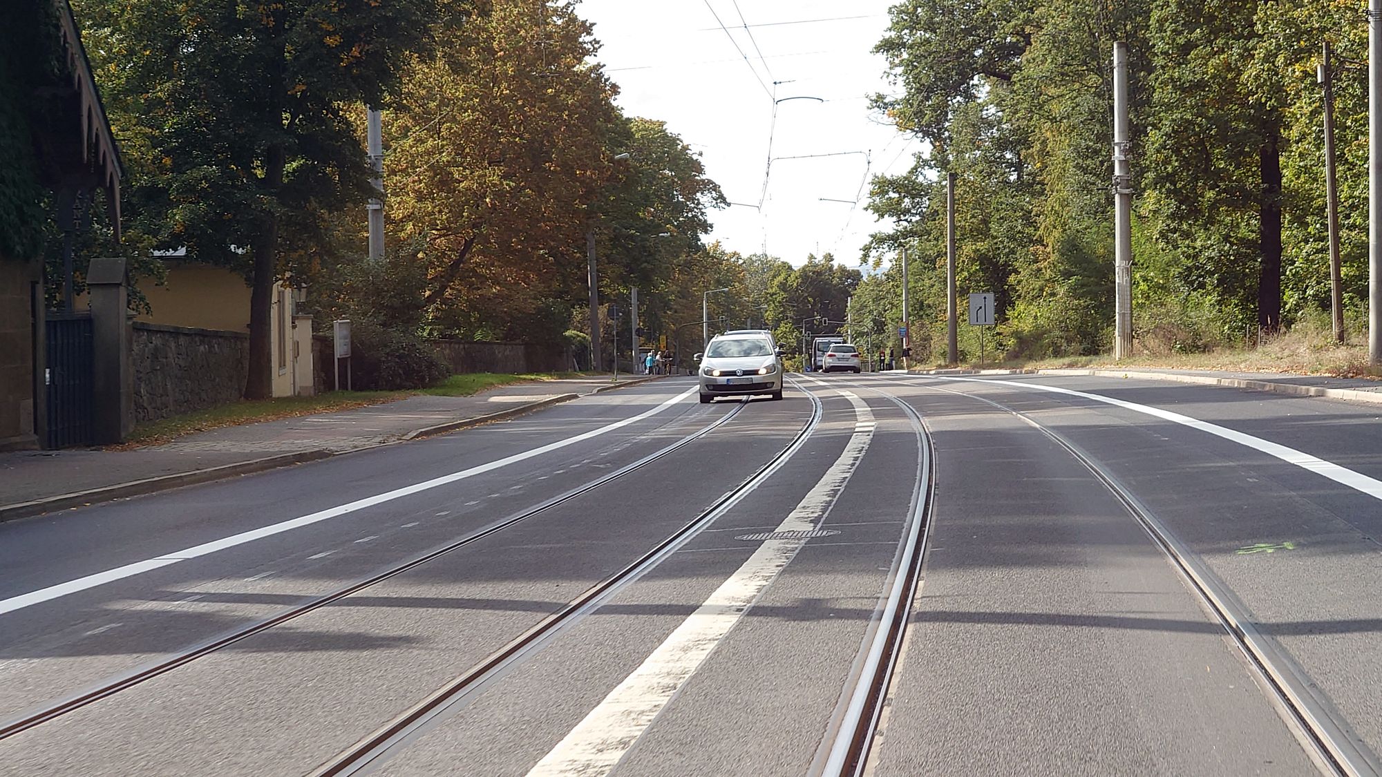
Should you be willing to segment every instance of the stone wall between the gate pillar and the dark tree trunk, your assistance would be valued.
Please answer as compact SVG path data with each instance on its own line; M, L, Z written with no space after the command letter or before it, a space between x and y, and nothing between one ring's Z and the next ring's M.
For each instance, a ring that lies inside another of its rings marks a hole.
M249 375L249 335L134 324L134 419L234 402Z

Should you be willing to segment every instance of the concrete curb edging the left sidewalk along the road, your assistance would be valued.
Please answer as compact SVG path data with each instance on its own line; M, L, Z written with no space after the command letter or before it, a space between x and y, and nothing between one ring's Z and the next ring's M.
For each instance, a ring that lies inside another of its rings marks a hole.
M488 413L482 416L474 416L460 420L452 420L446 423L438 423L435 426L428 426L424 429L416 429L402 436L397 441L377 442L373 445L362 445L359 448L351 448L348 451L300 451L297 453L282 453L278 456L265 456L263 459L253 459L249 462L236 462L234 465L223 465L218 467L207 467L202 470L191 470L184 473L173 473L159 477L149 477L144 480L134 480L130 483L119 483L115 485L105 485L101 488L91 488L88 491L77 491L75 494L61 494L58 496L47 496L44 499L35 499L32 502L18 502L14 505L0 505L0 523L12 521L18 518L29 518L33 516L40 516L43 513L51 513L55 510L66 510L68 507L80 507L84 505L91 505L95 502L112 502L115 499L127 499L130 496L144 496L148 494L158 494L160 491L170 491L173 488L181 488L184 485L196 485L200 483L210 483L213 480L224 480L229 477L238 477L243 474L254 474L272 469L286 467L290 465L301 465L305 462L316 462L321 459L329 459L333 456L341 456L346 453L357 453L359 451L369 451L373 448L381 448L384 445L392 445L394 442L401 442L405 440L420 440L423 437L431 437L434 434L444 434L446 431L456 431L470 426L480 426L482 423L491 423L495 420L504 420L509 418L520 416L532 411L546 408L549 405L556 405L557 402L567 402L579 398L580 394L561 394L558 397L549 397L546 400L538 400L536 402L527 402L518 405L517 408L509 408L506 411L499 411L495 413Z

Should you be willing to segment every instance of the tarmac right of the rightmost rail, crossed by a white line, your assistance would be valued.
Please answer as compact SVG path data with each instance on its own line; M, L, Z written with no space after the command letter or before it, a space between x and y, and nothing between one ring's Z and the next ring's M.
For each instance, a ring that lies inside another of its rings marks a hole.
M1197 422L1190 424L1023 383L936 386L1020 409L1103 466L1229 592L1278 653L1276 661L1303 679L1307 701L1379 769L1382 422L1375 409L1150 382L1035 382L1173 411Z

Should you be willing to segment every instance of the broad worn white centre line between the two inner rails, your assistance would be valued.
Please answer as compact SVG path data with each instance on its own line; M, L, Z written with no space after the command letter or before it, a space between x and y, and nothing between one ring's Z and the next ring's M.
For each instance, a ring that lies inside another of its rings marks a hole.
M849 391L840 394L853 402L860 420L872 420L873 413L862 400ZM811 487L775 531L815 528L815 523L825 518L844 484L854 474L872 438L872 429L854 431L825 477ZM763 542L753 556L705 600L705 604L683 621L641 666L609 691L609 695L551 748L528 776L587 777L611 771L806 542L804 539Z

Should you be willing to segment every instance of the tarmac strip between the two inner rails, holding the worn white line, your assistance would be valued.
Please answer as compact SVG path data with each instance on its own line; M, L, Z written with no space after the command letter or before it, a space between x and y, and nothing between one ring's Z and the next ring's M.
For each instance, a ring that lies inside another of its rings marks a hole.
M803 383L825 415L802 452L379 773L808 773L907 535L919 440L884 397ZM821 534L760 567L796 520Z

